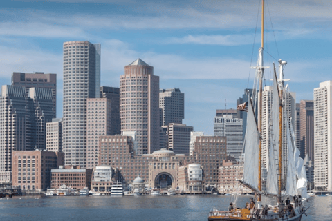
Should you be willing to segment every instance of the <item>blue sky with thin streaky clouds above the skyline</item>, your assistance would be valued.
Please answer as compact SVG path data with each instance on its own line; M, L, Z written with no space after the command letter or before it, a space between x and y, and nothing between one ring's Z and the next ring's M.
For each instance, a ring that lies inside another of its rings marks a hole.
M185 93L184 123L213 134L216 109L225 108L225 99L236 108L244 88L252 88L259 2L1 1L0 80L10 84L13 72L57 73L62 117L63 42L100 43L102 85L119 86L124 66L140 57L154 66L160 88ZM313 88L332 80L331 11L329 0L267 1L264 62L288 61L285 78L297 102L313 99ZM271 73L266 70L266 85Z

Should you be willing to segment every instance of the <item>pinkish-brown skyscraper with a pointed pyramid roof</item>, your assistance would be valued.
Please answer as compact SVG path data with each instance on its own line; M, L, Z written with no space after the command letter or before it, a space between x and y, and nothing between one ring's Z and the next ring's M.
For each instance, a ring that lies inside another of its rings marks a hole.
M136 131L138 155L159 144L159 76L154 67L136 59L120 76L121 131Z

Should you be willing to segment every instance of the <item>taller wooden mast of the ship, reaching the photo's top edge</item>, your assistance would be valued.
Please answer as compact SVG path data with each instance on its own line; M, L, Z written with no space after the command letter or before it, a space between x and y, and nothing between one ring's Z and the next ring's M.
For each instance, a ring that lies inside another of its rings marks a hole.
M263 48L264 48L264 0L261 0L261 48L259 48L259 66L260 66L260 76L259 76L259 108L258 108L258 130L261 134L261 115L262 115L262 93L263 93L263 73L264 73L264 67L263 67ZM259 139L259 156L258 156L258 190L261 191L261 137ZM258 197L258 201L261 201L261 195Z

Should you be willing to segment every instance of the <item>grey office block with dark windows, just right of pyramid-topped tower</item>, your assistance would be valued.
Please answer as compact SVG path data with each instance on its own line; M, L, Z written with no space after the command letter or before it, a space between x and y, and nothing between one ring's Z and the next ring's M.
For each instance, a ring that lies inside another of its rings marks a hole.
M171 123L182 124L185 118L185 94L179 88L159 90L159 108L162 122L160 126Z

